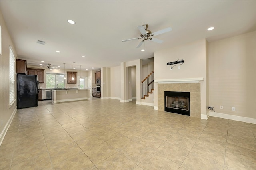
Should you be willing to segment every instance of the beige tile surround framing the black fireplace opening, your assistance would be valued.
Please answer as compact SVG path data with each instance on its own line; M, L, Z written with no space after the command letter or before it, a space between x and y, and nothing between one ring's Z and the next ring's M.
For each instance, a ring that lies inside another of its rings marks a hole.
M200 83L158 84L158 110L164 111L164 91L190 92L190 116L201 117Z

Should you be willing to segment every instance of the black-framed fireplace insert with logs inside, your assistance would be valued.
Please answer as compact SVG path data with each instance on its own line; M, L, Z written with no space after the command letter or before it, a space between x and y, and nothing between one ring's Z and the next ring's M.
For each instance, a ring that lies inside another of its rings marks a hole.
M190 116L190 92L164 91L164 111Z

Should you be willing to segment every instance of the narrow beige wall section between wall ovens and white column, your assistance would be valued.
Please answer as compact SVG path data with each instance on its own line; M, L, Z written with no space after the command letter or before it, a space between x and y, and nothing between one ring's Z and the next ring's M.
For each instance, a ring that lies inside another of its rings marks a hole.
M120 99L120 66L110 68L110 81L111 81L111 98Z

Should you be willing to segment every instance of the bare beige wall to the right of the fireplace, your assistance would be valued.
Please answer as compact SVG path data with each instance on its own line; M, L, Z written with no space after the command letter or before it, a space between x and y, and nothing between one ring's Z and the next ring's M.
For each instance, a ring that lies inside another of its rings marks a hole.
M255 74L256 31L209 43L209 105L217 113L256 118Z

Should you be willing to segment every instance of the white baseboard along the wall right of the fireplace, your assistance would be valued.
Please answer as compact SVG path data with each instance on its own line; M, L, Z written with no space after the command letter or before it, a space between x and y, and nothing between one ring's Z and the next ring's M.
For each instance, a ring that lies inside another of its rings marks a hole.
M228 115L224 113L216 113L216 112L209 112L210 116L213 117L220 117L224 119L230 119L234 121L240 121L240 122L246 122L246 123L253 123L256 124L256 119L250 118L250 117L242 117L242 116L236 116L236 115Z

